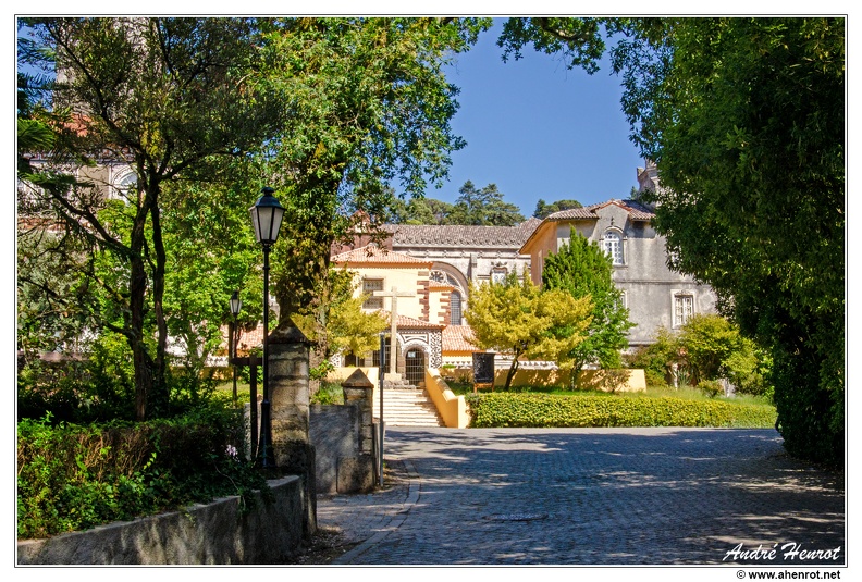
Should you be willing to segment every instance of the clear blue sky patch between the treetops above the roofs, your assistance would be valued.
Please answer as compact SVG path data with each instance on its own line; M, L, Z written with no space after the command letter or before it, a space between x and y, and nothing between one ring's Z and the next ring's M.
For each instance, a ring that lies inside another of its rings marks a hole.
M467 147L454 153L448 183L426 196L453 202L468 179L494 183L526 216L540 198L627 198L643 159L628 138L619 78L606 63L588 75L531 47L503 63L497 36L495 26L447 70L461 89L453 128Z

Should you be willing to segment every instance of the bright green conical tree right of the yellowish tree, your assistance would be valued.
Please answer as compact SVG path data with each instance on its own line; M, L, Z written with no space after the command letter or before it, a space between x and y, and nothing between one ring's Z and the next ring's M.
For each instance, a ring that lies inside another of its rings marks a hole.
M623 294L612 280L613 262L598 244L578 234L556 255L545 259L542 284L547 289L563 289L576 299L590 297L592 322L587 337L569 354L577 377L588 363L602 368L619 368L620 350L628 346L627 332L633 325Z

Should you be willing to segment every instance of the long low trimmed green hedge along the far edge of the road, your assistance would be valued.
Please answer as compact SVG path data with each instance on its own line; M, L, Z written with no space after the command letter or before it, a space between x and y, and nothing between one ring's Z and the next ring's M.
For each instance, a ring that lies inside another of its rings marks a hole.
M673 397L492 393L467 396L472 428L773 428L775 408Z

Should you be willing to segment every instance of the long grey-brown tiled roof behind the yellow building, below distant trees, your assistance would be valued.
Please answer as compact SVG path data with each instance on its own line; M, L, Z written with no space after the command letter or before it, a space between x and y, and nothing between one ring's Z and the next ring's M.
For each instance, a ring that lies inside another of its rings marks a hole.
M465 226L454 224L387 224L393 247L503 247L520 248L541 224L530 218L518 226Z

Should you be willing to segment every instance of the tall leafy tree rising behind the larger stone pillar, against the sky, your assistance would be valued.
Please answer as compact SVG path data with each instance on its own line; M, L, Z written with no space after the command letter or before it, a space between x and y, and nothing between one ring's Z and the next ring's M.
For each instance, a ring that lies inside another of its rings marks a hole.
M273 18L262 50L270 86L291 112L255 163L287 208L275 247L281 323L329 300L333 242L356 221L381 225L398 179L410 196L440 184L457 88L443 65L490 25L477 18ZM380 233L382 234L382 233Z

